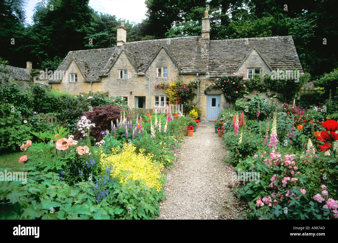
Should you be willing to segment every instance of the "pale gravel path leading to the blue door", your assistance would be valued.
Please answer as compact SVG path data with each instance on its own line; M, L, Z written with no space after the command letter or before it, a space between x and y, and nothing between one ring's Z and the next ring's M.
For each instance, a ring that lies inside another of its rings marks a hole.
M228 154L214 126L199 126L186 137L175 167L168 170L166 199L160 202L158 219L245 218L246 205L233 195L239 183L233 168L224 165Z

